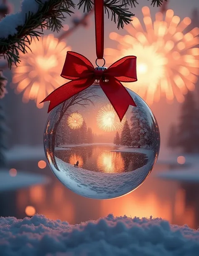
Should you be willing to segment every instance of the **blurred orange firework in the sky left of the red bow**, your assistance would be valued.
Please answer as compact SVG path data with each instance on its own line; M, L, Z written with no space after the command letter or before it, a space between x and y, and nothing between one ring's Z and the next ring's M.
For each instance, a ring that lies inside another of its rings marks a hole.
M59 42L54 35L33 38L27 53L20 53L20 64L13 67L13 84L16 92L23 92L23 102L35 100L39 104L54 89L65 83L60 76L65 61L65 54L71 50L64 42Z

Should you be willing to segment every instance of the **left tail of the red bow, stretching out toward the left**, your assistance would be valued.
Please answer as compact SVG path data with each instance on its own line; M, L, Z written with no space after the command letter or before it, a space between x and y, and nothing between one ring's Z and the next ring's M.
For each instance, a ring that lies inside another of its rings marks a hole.
M55 91L51 92L44 100L42 100L42 102L50 101L48 107L49 113L53 108L57 107L65 100L68 100L69 98L91 86L93 82L94 78L79 78L72 80L55 89Z

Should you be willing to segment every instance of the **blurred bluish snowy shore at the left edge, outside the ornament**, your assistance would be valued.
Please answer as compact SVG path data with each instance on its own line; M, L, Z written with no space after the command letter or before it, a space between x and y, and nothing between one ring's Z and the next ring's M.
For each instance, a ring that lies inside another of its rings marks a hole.
M44 175L18 172L15 177L11 177L8 170L0 170L0 192L21 189L36 184L45 184L49 181L49 178Z

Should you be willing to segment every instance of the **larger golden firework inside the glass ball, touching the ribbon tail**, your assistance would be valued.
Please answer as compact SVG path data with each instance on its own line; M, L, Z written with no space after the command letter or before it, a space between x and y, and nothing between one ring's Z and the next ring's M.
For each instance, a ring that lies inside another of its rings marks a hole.
M126 116L124 116L120 122L120 119L111 104L102 107L97 115L98 127L106 132L122 129L125 121Z

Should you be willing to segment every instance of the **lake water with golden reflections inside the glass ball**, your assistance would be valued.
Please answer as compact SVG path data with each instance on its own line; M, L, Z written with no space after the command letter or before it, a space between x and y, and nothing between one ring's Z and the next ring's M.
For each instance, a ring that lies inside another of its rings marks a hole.
M83 169L105 172L131 172L143 167L148 162L144 153L114 152L117 148L110 146L76 146L70 150L55 150L55 156L69 164L79 161Z

